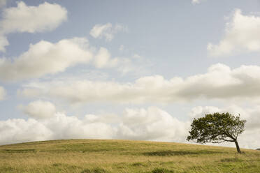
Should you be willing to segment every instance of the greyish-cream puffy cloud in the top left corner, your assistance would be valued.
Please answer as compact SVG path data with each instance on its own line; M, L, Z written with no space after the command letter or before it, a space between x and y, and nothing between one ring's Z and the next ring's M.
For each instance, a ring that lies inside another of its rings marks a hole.
M4 1L2 1L4 2ZM14 32L36 33L52 31L67 19L67 10L56 3L27 6L23 1L17 7L5 8L0 21L0 51L8 45L6 34Z

